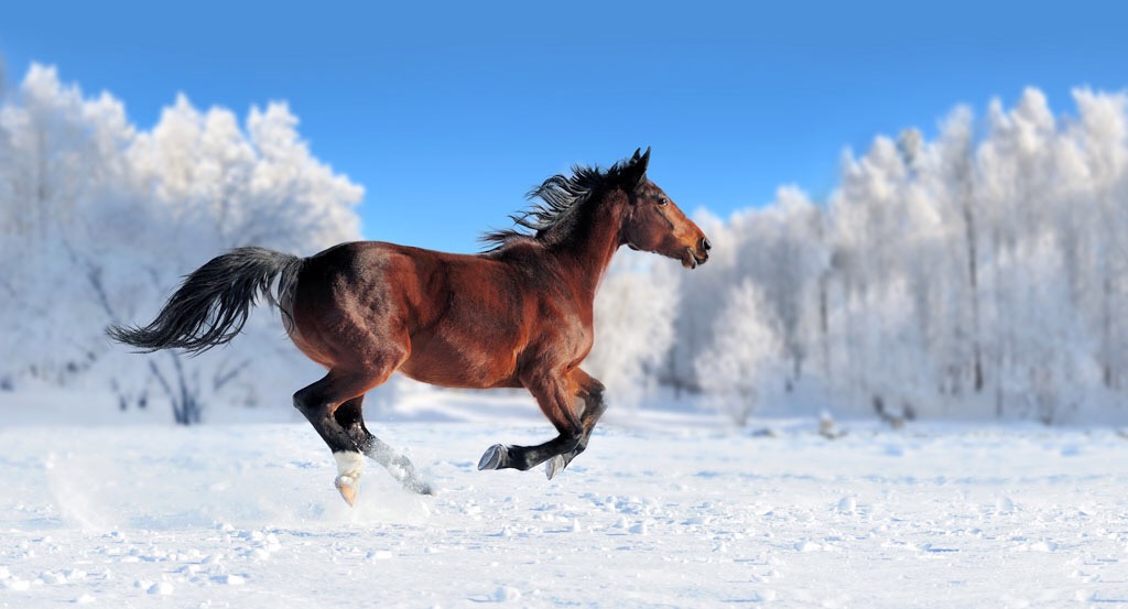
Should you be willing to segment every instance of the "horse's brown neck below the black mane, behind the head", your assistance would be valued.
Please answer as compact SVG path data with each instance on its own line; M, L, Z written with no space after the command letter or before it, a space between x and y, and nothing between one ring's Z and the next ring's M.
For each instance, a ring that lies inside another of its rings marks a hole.
M594 300L603 273L622 245L626 203L603 201L592 204L597 206L588 212L590 215L576 226L572 235L561 241L557 255L563 263L563 272L572 276L572 284L585 298Z

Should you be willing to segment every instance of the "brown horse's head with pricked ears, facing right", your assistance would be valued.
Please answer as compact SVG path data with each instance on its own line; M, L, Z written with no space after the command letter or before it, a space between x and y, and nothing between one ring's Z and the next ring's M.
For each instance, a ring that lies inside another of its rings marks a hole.
M712 245L708 238L673 201L646 177L650 148L634 156L624 167L625 188L631 209L623 224L622 240L631 249L653 251L681 262L686 268L697 268L708 261Z

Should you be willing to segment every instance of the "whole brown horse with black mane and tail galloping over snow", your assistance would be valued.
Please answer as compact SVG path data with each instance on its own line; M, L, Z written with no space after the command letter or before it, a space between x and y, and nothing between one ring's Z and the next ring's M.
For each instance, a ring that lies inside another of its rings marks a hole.
M552 478L583 452L606 409L602 383L580 363L591 351L592 303L611 256L626 245L686 268L708 259L705 235L646 178L650 149L638 152L607 170L575 167L548 178L529 193L543 204L513 217L532 232L487 235L493 247L483 254L374 241L308 258L239 248L193 272L151 324L111 327L109 335L148 351L205 351L231 341L265 294L294 345L328 370L293 404L333 450L335 484L350 505L362 454L405 487L430 493L361 416L364 394L397 370L442 387L528 389L557 436L535 447L495 444L478 469L548 461Z

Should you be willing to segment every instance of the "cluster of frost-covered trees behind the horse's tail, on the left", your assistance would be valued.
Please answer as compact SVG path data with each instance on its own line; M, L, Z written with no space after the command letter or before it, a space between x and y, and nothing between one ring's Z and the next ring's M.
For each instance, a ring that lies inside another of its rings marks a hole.
M307 364L270 316L252 318L239 354L192 360L126 355L103 329L153 315L180 276L231 246L309 254L359 237L361 188L314 158L296 125L281 104L240 125L182 96L139 131L111 95L86 97L33 65L0 102L0 256L19 261L0 271L0 382L86 382L123 406L164 396L183 423L208 401L288 404L277 381Z

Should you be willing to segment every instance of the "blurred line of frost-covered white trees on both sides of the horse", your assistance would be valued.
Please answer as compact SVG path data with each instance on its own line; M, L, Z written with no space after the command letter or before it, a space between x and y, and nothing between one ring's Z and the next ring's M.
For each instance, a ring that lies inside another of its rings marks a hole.
M960 106L932 139L908 129L845 152L825 201L784 186L767 205L706 213L713 257L693 273L620 253L587 367L620 403L664 386L735 422L811 396L902 418L1114 413L1128 97L1073 99L1064 114L1037 89L978 117ZM151 316L230 247L309 255L360 238L362 188L297 123L284 104L240 121L180 96L139 130L113 96L41 65L0 90L0 390L86 383L122 408L167 400L184 423L206 403L288 404L277 387L309 364L270 315L239 350L143 364L102 330Z

